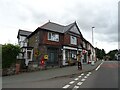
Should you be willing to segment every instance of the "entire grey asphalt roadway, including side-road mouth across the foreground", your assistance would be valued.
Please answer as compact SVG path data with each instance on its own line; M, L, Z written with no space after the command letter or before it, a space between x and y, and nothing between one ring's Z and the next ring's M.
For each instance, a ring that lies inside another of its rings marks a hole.
M3 88L118 88L118 62L104 61L95 70L47 80L12 82ZM34 77L35 78L35 77Z

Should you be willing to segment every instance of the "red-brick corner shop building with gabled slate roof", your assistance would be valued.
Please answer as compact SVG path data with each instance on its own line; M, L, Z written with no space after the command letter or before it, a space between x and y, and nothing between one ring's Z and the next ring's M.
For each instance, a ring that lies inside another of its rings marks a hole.
M48 22L38 27L27 37L28 46L39 51L39 60L43 54L48 55L46 62L50 65L68 65L75 62L77 53L82 52L82 34L76 22L63 26Z

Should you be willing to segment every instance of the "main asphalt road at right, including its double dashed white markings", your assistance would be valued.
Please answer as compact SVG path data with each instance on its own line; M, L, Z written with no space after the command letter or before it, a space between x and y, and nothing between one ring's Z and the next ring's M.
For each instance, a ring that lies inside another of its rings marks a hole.
M94 71L76 77L73 84L67 83L63 88L118 88L118 62L105 61ZM78 78L78 80L77 80ZM119 79L120 80L120 79Z

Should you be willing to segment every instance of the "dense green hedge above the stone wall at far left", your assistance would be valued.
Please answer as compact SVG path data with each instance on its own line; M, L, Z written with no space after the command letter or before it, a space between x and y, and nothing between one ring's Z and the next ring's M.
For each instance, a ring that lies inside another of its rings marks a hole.
M19 52L20 47L18 45L2 45L2 68L9 68L12 64L15 64Z

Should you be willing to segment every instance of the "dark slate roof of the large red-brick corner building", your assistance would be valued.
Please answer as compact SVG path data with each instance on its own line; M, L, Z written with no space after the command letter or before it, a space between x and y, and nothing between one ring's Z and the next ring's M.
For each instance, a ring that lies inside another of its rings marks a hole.
M54 31L54 32L59 32L59 33L65 33L66 31L68 31L75 23L69 24L67 26L63 26L63 25L59 25L53 22L47 22L46 24L44 24L43 26L39 27L39 28L43 28L46 30L50 30L50 31Z

